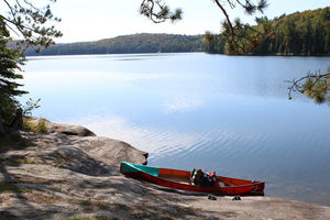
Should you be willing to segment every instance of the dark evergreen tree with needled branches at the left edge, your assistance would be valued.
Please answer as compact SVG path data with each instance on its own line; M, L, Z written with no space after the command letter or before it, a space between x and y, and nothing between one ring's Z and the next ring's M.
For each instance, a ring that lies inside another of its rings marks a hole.
M56 0L50 0L55 2ZM21 105L15 97L26 94L19 89L22 75L18 74L20 65L24 64L24 55L20 52L20 46L9 48L11 41L10 32L21 34L24 41L21 45L29 46L50 46L53 44L53 37L62 36L54 26L46 26L47 21L59 21L54 18L50 6L37 8L26 0L15 0L14 3L1 0L6 6L0 14L0 132L19 129L22 121ZM18 122L19 121L19 122ZM4 128L4 129L3 129Z

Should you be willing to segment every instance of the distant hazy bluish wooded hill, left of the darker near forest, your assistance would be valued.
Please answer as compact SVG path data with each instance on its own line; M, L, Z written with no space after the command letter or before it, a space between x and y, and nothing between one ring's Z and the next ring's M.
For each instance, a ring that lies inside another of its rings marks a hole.
M40 53L29 48L25 55L128 54L202 52L202 35L133 34L96 42L56 44Z

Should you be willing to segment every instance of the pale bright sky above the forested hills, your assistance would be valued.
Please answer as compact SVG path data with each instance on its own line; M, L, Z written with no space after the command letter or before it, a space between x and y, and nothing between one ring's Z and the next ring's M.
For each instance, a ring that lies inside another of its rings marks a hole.
M223 15L212 0L165 0L172 9L182 8L184 20L153 24L139 14L142 0L57 0L53 12L62 18L57 28L64 36L56 42L81 42L135 33L204 34L219 32ZM330 0L270 0L268 18L330 6ZM233 18L252 22L241 10L231 10ZM260 16L262 14L257 14Z

